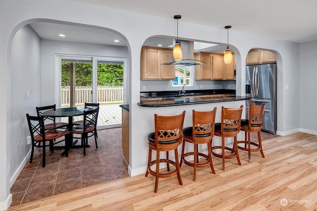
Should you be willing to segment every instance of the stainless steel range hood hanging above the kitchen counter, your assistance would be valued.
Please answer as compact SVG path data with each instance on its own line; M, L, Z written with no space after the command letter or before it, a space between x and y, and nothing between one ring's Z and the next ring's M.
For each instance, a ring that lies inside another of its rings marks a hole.
M173 40L173 46L175 44L176 40ZM194 42L193 41L178 41L180 44L182 51L183 51L183 58L182 60L178 61L171 61L167 63L163 63L163 65L183 65L183 66L191 66L191 65L201 65L201 64L206 64L203 61L199 61L194 59Z

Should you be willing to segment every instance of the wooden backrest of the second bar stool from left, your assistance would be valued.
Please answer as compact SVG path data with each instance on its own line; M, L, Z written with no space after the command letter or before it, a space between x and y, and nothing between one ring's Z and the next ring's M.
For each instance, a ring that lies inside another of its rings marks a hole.
M193 110L193 140L209 138L214 135L214 124L217 107L211 111Z

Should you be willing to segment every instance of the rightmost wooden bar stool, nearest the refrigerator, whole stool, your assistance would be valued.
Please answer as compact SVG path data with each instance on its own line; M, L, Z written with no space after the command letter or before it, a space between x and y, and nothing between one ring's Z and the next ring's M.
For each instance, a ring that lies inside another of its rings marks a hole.
M241 130L245 131L244 141L237 141L238 144L243 143L243 146L239 146L238 148L244 151L248 151L249 162L251 162L251 152L261 152L262 157L264 158L264 153L262 149L262 141L261 141L261 128L263 126L263 114L264 114L265 103L262 105L249 105L249 119L241 120ZM251 142L250 140L250 132L258 133L258 141L259 144ZM247 139L248 133L248 139ZM251 148L251 145L256 146L257 148Z

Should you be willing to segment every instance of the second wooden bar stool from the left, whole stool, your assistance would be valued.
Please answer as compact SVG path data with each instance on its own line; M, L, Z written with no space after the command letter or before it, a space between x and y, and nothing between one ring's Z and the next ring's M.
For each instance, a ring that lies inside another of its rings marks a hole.
M193 110L193 126L186 127L183 130L183 146L180 166L184 162L184 164L194 167L194 181L196 181L196 168L210 166L212 173L215 173L211 160L211 139L214 135L216 110L216 107L214 107L212 111ZM185 142L194 144L194 152L184 153ZM208 155L198 152L199 144L207 144ZM191 155L194 156L194 163L185 159L187 156ZM199 156L206 158L206 162L199 163Z

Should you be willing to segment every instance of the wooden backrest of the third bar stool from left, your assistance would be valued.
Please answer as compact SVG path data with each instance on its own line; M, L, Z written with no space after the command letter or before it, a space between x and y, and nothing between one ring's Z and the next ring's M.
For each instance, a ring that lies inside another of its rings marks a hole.
M243 105L240 108L221 107L221 134L235 135L240 132L242 110Z

